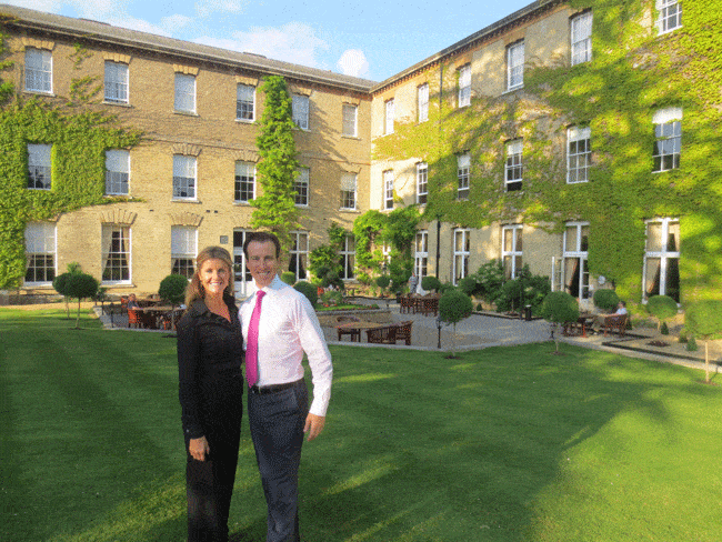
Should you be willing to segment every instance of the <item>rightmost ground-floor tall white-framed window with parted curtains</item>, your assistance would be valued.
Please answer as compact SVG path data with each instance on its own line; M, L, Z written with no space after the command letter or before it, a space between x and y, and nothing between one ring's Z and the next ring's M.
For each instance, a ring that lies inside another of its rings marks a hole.
M680 221L646 221L644 295L669 295L680 302Z

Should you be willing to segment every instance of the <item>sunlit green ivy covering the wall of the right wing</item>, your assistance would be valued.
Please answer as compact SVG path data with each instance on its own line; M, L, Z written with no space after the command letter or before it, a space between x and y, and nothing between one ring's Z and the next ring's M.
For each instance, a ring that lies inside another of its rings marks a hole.
M429 121L397 122L374 141L374 160L429 164L424 217L462 227L503 220L550 231L590 222L589 268L621 295L642 299L645 219L680 218L682 301L722 298L722 0L683 2L683 27L658 36L653 0L571 0L593 12L591 62L534 66L524 88L455 108L454 59L430 77ZM438 70L439 68L434 68ZM438 73L438 72L437 72ZM483 81L482 81L483 83ZM440 106L441 103L441 106ZM653 113L683 109L679 169L652 173ZM591 181L568 184L570 126L591 127ZM523 138L523 189L504 192L504 142ZM457 200L457 154L470 152L471 191Z

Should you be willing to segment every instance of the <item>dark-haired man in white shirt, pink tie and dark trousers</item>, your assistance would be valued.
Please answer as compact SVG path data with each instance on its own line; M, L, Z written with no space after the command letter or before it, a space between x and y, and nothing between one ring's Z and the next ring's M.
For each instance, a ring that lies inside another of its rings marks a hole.
M248 418L265 502L267 542L300 542L298 472L303 433L323 430L333 368L323 332L309 300L278 277L281 245L254 232L243 245L255 292L239 310L245 343ZM301 360L308 355L313 402Z

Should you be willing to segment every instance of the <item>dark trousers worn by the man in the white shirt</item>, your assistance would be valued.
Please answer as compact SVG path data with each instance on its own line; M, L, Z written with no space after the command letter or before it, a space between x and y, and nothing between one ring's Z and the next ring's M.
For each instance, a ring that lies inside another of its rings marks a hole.
M248 419L268 505L267 542L300 542L299 465L309 412L305 381L273 393L248 394Z

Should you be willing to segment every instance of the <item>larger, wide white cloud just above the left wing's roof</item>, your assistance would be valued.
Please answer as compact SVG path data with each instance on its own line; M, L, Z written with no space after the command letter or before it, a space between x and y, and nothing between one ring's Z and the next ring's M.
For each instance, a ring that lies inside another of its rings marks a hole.
M320 67L319 51L329 48L310 26L300 22L290 22L280 28L255 28L249 32L235 32L231 39L204 37L195 42L232 51L253 52L269 59L311 68Z

